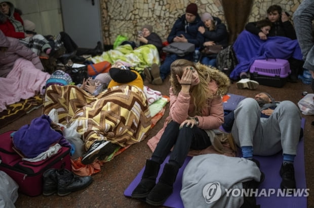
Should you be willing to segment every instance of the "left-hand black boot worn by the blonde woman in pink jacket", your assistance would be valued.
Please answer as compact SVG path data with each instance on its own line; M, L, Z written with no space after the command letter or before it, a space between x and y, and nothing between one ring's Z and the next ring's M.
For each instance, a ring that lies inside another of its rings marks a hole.
M132 198L145 198L150 190L156 185L156 178L160 169L160 164L146 160L145 170L142 176L142 180L133 190L131 196Z

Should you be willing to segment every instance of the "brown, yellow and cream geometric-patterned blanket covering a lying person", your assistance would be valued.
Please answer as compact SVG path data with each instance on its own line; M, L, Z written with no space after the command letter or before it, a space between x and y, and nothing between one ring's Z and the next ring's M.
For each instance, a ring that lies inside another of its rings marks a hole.
M44 114L58 112L59 123L78 122L85 149L95 140L109 140L122 147L138 143L151 126L144 92L131 85L108 88L93 96L77 86L51 85L46 89Z

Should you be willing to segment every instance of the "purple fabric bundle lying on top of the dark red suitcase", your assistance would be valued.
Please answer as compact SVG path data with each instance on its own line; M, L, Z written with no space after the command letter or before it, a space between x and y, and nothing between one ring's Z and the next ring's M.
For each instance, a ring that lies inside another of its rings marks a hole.
M59 142L63 136L50 127L51 119L47 115L35 118L30 125L22 126L13 134L13 144L26 158L35 158Z

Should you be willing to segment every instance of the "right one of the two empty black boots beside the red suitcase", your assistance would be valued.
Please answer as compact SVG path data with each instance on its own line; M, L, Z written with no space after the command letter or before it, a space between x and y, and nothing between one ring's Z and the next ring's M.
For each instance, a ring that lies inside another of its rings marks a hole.
M65 196L73 191L78 191L89 186L93 178L91 176L79 177L71 171L61 169L56 172L58 177L58 195Z

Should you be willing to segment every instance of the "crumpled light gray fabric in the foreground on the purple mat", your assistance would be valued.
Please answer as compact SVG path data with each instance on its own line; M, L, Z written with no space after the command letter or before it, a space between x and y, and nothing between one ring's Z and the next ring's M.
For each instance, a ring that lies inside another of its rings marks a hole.
M242 182L259 181L260 176L256 164L244 158L221 154L194 156L183 172L180 192L183 205L187 208L240 207L244 201L238 192L243 188Z

